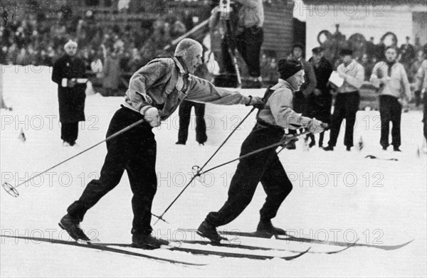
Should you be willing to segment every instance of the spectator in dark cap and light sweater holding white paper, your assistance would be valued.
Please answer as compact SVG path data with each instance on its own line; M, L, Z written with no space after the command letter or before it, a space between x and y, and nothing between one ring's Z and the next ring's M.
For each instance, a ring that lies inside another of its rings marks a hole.
M325 151L334 150L343 119L346 122L344 145L347 151L351 151L356 112L359 109L360 102L359 88L362 87L364 81L363 65L353 59L353 51L342 49L339 55L344 63L338 65L337 73L344 82L340 87L337 87L337 97L335 98L334 113L332 114L330 141L328 142L328 146L324 148Z

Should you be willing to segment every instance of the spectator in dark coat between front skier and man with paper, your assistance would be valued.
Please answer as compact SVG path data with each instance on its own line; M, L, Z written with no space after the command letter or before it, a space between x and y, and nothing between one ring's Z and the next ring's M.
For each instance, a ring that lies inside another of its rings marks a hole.
M315 71L317 85L313 93L308 97L307 117L316 118L322 122L330 124L331 122L331 107L332 95L330 94L330 86L328 80L333 71L332 63L323 57L324 49L317 47L312 49L313 56L309 62ZM322 147L325 131L320 132L319 146ZM310 134L312 141L309 146L316 144L314 134Z

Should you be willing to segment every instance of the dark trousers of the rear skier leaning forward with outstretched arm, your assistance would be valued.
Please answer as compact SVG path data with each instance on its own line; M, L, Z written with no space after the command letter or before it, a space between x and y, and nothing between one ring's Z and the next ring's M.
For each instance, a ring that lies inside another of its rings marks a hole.
M112 117L107 137L139 119L142 119L141 114L122 107ZM88 183L78 201L68 207L68 213L83 220L86 211L117 186L126 170L133 193L132 233L140 235L151 233L151 208L157 191L156 149L152 127L145 122L107 141L107 156L100 178Z

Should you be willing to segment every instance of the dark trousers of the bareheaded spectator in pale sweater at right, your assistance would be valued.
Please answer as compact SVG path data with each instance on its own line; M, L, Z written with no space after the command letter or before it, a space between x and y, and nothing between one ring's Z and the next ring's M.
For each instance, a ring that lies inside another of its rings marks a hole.
M402 105L397 101L396 97L391 95L379 96L379 117L381 118L381 146L389 146L390 122L391 127L391 144L393 146L401 145L400 122L402 114Z

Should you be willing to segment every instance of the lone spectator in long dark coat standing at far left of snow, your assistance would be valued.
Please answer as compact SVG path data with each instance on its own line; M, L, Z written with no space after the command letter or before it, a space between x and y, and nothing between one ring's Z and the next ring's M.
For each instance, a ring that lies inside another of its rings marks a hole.
M78 122L85 121L85 62L75 57L77 43L68 41L65 55L53 65L52 81L58 84L60 139L63 146L74 146Z

